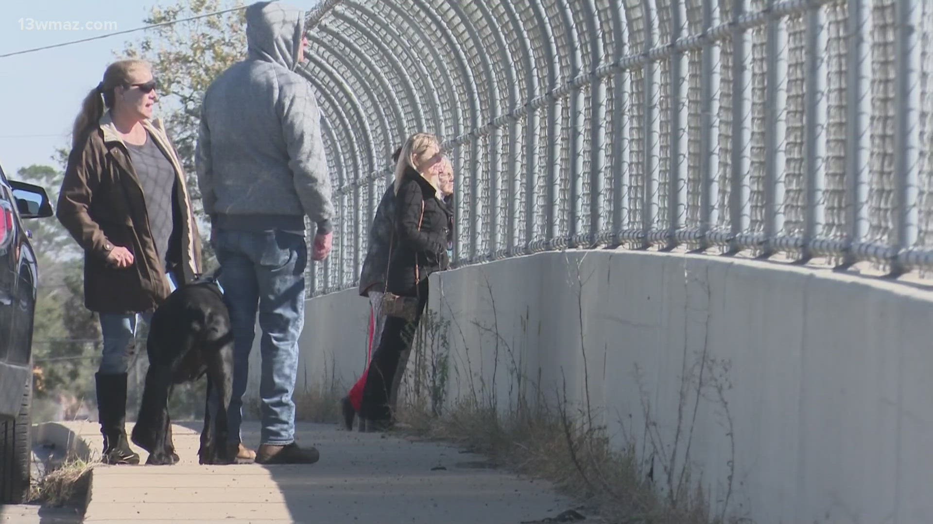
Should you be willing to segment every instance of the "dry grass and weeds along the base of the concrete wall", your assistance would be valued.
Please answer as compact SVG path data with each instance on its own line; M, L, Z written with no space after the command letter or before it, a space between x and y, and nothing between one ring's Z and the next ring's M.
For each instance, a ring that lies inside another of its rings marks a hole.
M398 420L399 431L453 442L522 475L549 480L608 522L717 523L702 491L672 507L655 485L654 472L639 470L634 445L613 448L605 431L585 430L582 415L560 407L499 416L490 407L461 402L434 417L429 407L409 405L399 410Z

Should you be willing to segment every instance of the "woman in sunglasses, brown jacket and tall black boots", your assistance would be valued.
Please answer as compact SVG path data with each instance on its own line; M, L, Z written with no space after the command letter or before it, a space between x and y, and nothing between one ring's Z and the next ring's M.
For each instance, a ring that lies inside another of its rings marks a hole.
M127 441L127 369L140 317L201 273L185 172L158 118L151 66L110 64L85 97L57 215L84 250L84 302L99 313L97 407L105 463L138 463Z

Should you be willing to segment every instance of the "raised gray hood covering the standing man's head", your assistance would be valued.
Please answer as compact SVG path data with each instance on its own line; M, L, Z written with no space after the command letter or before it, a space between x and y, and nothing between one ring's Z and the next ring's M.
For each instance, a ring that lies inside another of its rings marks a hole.
M246 7L246 48L249 58L278 63L289 71L297 65L304 11L281 2L257 2Z

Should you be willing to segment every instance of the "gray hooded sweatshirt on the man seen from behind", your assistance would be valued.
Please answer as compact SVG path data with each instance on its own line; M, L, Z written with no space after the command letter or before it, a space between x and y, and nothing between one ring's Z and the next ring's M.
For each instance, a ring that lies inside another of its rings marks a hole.
M329 232L333 216L321 114L295 73L304 12L279 2L246 8L249 56L204 93L198 186L212 225Z

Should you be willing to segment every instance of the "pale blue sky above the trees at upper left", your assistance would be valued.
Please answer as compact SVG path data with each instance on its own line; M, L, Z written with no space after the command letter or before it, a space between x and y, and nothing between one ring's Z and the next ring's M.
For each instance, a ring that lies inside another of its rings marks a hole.
M246 1L245 4L251 2ZM310 9L317 0L288 0ZM173 6L174 0L113 2L104 0L7 0L0 2L0 55L98 36L104 23L116 31L144 25L153 6ZM223 0L233 7L235 0ZM78 31L39 29L48 21L78 22ZM85 29L85 24L91 26ZM32 26L32 29L30 29ZM118 34L63 48L0 58L0 165L9 176L31 164L55 165L51 156L67 145L68 132L81 100L97 85L114 51L137 41L145 32ZM156 112L159 112L156 106Z

